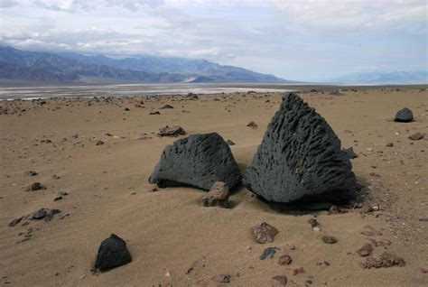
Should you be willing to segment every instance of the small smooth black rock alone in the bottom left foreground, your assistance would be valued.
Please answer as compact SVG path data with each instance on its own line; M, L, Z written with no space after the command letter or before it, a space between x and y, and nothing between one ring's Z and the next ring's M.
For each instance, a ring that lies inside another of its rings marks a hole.
M95 269L106 271L131 261L132 258L126 248L126 242L119 236L112 234L99 245Z

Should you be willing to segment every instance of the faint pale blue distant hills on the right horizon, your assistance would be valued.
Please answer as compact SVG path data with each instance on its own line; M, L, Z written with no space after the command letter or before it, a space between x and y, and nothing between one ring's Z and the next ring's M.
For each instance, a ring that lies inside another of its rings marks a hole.
M331 82L347 84L427 84L428 71L402 70L392 72L354 73L331 79Z

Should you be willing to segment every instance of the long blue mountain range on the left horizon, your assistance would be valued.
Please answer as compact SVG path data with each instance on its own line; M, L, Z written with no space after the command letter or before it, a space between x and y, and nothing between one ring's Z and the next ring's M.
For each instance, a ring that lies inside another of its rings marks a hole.
M144 83L287 82L273 75L208 60L154 56L113 59L103 55L22 51L0 46L0 79L82 82L87 78Z

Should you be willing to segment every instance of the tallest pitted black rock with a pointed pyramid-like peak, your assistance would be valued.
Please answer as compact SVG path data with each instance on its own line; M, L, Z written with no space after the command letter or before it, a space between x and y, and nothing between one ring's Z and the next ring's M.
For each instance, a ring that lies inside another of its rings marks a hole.
M267 126L244 183L268 201L339 201L356 187L351 168L330 125L289 93Z

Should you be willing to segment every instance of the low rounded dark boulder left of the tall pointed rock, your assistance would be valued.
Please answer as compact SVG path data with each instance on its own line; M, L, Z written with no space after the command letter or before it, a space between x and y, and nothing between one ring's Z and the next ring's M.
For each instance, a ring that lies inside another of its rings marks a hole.
M217 133L192 134L168 145L149 178L160 188L193 186L209 190L216 181L234 188L242 177L228 144Z

